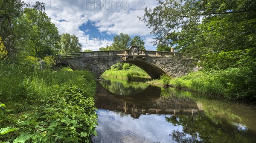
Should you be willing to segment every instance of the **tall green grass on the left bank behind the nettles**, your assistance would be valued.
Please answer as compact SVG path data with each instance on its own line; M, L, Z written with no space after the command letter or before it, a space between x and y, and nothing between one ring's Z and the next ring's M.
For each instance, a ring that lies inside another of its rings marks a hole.
M0 65L0 100L18 101L23 98L36 99L44 95L55 84L73 83L79 76L92 80L88 71L40 70L33 66L20 67L15 64ZM76 83L75 83L76 81ZM87 86L85 86L86 88Z

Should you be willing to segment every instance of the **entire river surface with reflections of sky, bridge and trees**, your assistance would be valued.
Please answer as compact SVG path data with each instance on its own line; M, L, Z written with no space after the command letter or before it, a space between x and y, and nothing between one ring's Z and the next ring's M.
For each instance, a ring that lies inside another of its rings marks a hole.
M94 143L255 143L256 105L103 79Z

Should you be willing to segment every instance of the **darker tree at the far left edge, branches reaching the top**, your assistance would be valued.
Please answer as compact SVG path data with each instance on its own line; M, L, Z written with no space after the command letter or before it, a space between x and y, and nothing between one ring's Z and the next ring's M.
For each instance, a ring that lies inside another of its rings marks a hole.
M16 33L14 25L25 23L17 23L16 20L23 16L23 14L32 11L30 5L21 0L0 0L0 37L5 41L6 50L8 50L9 56L13 57L19 52L19 48L22 47L18 43L23 37L22 33ZM32 6L33 9L44 10L44 3L36 2Z

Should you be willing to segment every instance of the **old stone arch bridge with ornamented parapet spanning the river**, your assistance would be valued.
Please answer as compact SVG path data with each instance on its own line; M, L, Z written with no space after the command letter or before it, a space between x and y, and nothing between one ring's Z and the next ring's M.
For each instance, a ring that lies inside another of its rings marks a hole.
M152 79L157 79L162 74L183 76L194 67L192 58L182 56L181 53L140 50L138 46L131 46L128 50L49 56L54 56L57 64L70 66L72 70L90 70L96 78L99 78L113 64L119 62L137 65L145 70Z

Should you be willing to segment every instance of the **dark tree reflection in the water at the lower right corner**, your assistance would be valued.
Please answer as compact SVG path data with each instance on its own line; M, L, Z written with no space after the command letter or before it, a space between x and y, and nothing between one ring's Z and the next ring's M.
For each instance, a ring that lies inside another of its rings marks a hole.
M215 120L207 115L172 115L166 121L183 126L183 131L174 130L172 137L178 143L252 143L256 134L251 130L241 131L226 119Z

